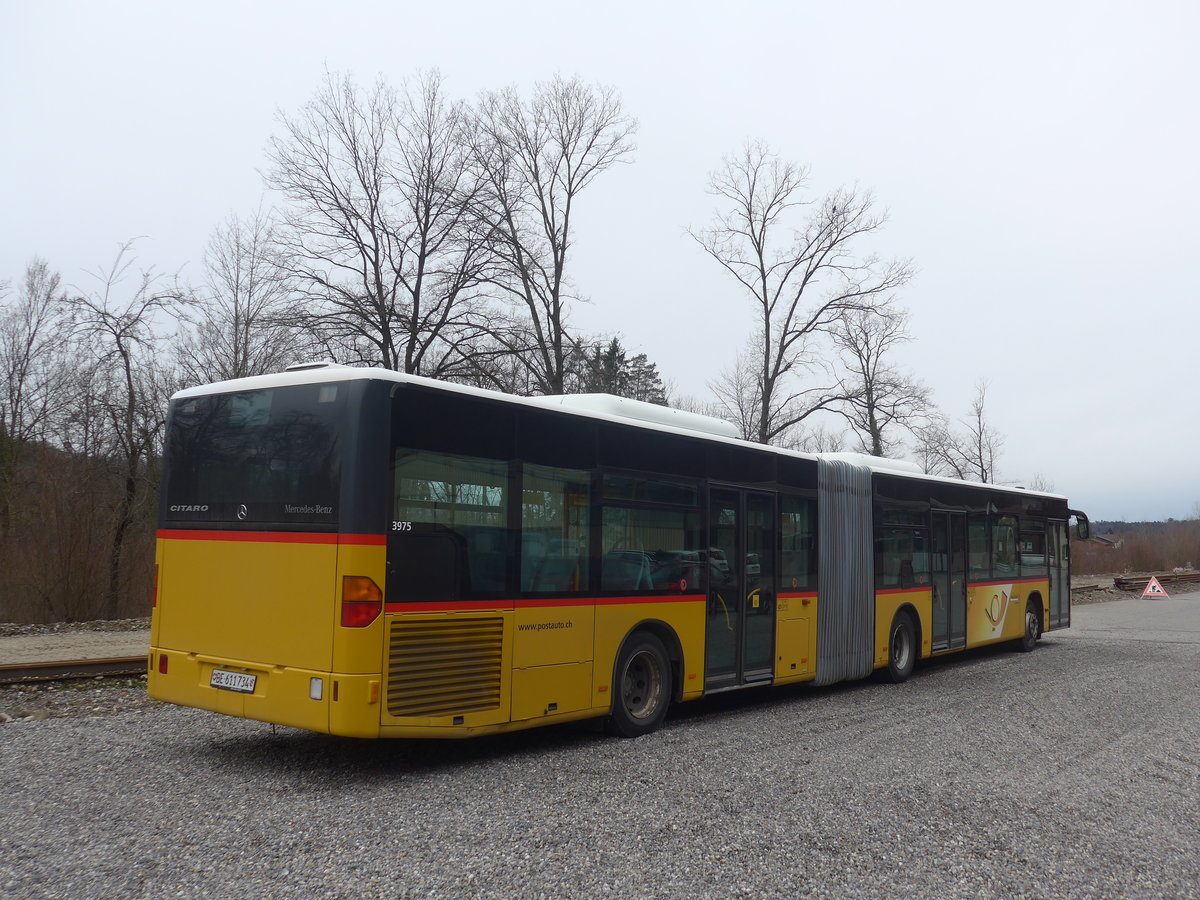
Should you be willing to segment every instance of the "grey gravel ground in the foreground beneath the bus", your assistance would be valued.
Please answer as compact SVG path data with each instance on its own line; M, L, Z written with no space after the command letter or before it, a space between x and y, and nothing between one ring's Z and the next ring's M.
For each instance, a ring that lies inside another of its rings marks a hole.
M137 691L0 727L0 896L1200 896L1200 593L637 740L354 742Z

